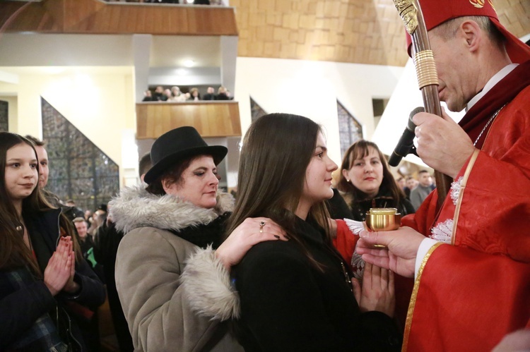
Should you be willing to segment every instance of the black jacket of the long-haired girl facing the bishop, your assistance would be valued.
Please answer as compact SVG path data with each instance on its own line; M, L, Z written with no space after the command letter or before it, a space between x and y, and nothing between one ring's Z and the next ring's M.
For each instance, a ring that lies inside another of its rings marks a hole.
M360 311L322 230L298 219L296 231L322 270L292 239L258 243L232 269L245 351L399 351L396 325L382 312Z

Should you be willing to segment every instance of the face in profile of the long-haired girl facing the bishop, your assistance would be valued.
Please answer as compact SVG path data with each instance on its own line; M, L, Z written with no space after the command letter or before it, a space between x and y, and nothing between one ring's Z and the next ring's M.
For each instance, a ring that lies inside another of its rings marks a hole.
M300 202L306 202L311 207L316 202L333 197L331 173L336 169L337 164L329 159L324 135L319 133L317 147L305 171L305 184Z

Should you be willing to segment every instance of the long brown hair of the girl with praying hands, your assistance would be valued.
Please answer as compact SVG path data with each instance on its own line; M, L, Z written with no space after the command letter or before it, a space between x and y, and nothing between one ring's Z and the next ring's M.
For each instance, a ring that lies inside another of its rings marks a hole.
M27 265L34 274L42 277L43 273L40 272L33 253L24 243L23 233L16 229L18 226L23 226L23 219L16 212L6 190L7 151L19 144L27 144L35 152L33 143L27 138L16 133L0 132L0 269L13 269ZM37 152L35 152L35 158L37 158ZM38 165L39 163L37 162L37 170ZM37 186L33 192L22 201L22 214L36 214L37 212L53 209L45 200L42 192L40 192L38 179L36 182ZM73 226L62 214L59 224L61 226L61 236L72 237L76 260L81 260L81 251L79 250L76 236L73 235Z

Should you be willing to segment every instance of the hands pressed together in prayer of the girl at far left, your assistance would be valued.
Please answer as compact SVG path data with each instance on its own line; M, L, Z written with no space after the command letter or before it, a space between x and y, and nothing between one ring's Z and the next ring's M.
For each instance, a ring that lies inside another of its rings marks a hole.
M72 267L75 266L73 252L71 250L71 240L61 237L57 250L49 258L48 265L44 272L45 285L52 296L57 295L66 282L69 281Z

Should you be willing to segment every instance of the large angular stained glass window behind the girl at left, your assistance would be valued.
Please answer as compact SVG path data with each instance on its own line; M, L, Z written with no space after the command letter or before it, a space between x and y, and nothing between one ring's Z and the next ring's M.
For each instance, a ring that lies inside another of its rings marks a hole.
M119 167L45 99L42 138L47 142L47 189L76 207L94 211L119 190Z

